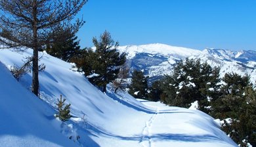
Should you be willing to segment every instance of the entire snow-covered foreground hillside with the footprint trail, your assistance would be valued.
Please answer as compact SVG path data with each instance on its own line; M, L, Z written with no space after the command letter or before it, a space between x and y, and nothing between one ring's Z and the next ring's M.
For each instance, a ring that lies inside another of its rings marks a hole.
M0 146L232 147L214 119L198 110L134 99L118 91L102 93L72 64L40 53L40 97L30 92L32 74L17 82L6 67L32 56L0 50ZM6 66L6 67L5 67ZM60 94L72 118L54 118ZM70 138L70 139L68 139Z

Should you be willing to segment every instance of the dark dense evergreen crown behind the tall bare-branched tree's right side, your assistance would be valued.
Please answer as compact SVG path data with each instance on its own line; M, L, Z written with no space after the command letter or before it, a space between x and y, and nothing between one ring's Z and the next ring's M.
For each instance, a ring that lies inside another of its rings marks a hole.
M51 43L47 44L47 53L64 61L69 62L80 50L79 41L70 29L56 29L49 39Z

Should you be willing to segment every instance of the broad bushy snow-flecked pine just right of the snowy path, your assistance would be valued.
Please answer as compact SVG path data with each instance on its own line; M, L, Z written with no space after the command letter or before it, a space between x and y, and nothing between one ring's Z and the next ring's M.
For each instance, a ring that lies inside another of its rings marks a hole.
M220 80L218 67L187 58L175 65L172 75L165 75L161 80L161 101L182 107L198 101L199 109L207 112L209 100L217 99Z

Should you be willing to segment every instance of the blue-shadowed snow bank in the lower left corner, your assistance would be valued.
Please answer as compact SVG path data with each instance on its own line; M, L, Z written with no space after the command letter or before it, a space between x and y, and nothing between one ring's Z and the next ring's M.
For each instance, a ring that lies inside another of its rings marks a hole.
M0 146L76 146L62 135L54 111L22 87L0 62Z

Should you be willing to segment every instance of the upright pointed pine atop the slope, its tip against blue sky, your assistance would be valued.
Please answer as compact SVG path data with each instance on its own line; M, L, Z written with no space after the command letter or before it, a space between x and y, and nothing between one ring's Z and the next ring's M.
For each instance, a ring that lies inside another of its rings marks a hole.
M98 76L92 76L89 80L102 87L102 91L106 91L106 84L117 78L120 67L126 61L126 54L120 54L117 51L119 43L114 42L108 31L104 31L100 35L99 41L94 37L93 44L96 47L96 58L91 61L93 64L92 74L97 74Z

